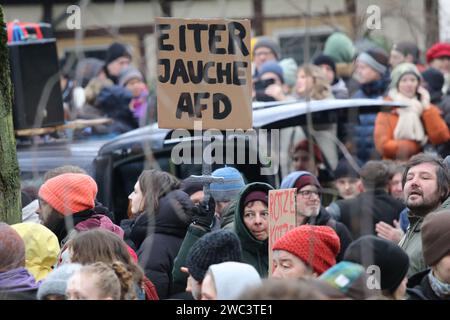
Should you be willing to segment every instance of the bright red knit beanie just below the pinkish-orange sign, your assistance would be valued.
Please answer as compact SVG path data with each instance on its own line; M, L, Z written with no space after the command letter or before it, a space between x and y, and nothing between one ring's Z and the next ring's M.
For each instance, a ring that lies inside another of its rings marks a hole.
M340 240L336 232L326 226L303 225L278 239L272 250L287 251L321 275L336 264Z

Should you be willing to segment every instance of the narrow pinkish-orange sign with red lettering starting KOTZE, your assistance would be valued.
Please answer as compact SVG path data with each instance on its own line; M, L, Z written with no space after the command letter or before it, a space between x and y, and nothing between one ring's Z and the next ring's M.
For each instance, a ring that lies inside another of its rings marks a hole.
M296 188L269 191L269 277L273 272L272 248L275 241L297 226L296 192Z

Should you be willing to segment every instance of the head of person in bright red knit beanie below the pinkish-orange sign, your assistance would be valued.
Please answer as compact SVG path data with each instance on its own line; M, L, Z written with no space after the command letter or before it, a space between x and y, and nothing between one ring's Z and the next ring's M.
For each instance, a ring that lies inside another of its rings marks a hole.
M303 225L292 229L273 245L273 278L318 277L336 264L340 242L327 226Z

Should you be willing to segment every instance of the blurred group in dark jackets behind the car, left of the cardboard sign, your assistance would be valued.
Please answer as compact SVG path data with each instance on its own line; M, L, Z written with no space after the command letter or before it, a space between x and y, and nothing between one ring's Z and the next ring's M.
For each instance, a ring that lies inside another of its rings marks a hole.
M111 44L105 60L79 60L74 70L69 61L61 62L66 120L113 120L90 128L89 134L94 135L121 134L156 121L156 98L144 75L132 65L131 50L125 44Z

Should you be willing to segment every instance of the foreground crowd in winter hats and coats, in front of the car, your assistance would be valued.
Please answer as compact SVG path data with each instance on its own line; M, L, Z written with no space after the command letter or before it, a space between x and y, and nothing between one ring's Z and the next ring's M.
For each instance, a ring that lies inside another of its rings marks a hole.
M209 199L198 180L144 170L122 221L82 169L55 168L37 222L0 223L0 298L445 300L448 160L419 153L355 170L343 159L327 207L318 178L292 172L280 188L297 189L297 227L273 243L271 269L274 187L233 167L212 173L223 182L210 184Z

